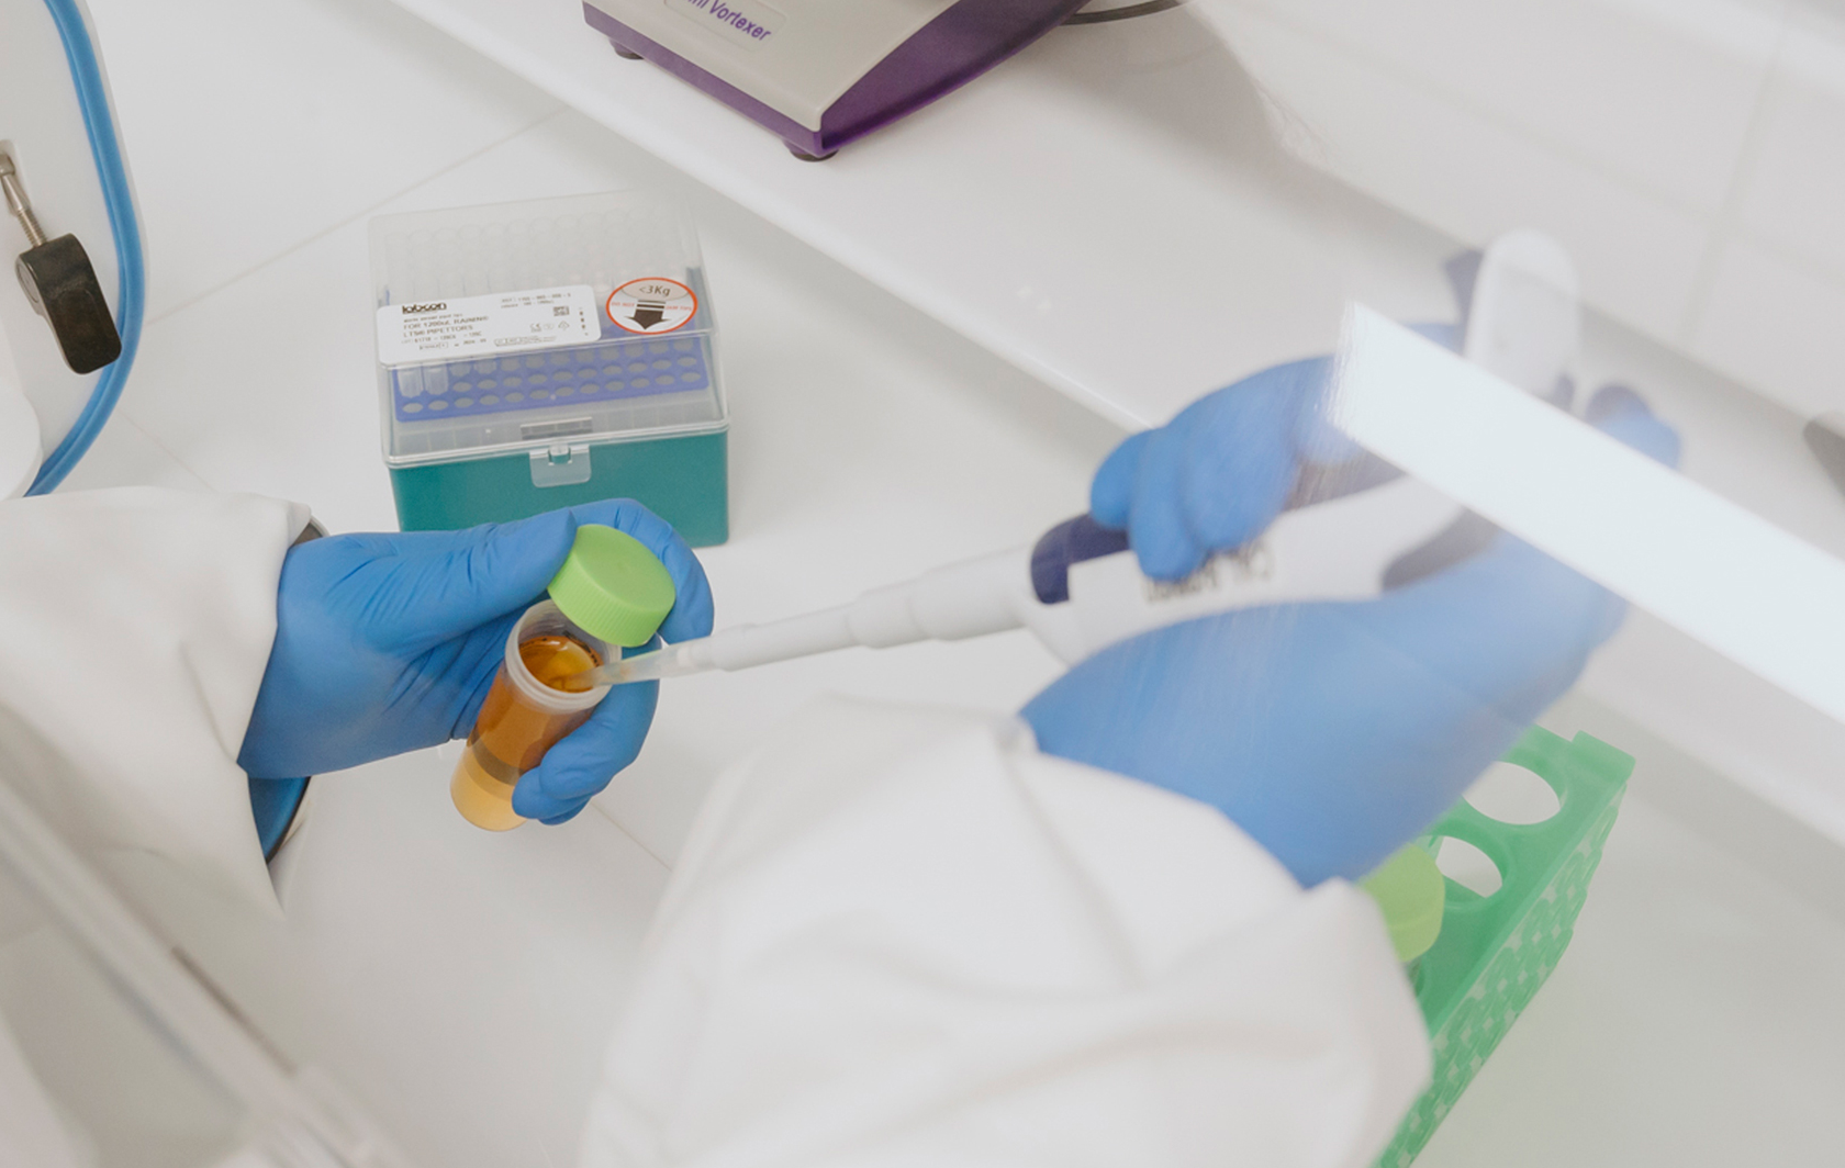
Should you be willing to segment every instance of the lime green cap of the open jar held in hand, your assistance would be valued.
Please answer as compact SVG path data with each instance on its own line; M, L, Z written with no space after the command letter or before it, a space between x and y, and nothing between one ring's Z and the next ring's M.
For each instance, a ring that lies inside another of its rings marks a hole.
M577 528L550 594L585 633L627 650L653 640L679 598L666 565L644 542L601 524Z

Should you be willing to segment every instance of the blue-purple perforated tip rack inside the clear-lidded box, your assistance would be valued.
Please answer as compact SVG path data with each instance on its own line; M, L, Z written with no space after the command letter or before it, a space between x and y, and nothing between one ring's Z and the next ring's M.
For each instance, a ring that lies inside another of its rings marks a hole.
M664 336L397 369L391 406L400 423L430 423L708 387L703 338Z

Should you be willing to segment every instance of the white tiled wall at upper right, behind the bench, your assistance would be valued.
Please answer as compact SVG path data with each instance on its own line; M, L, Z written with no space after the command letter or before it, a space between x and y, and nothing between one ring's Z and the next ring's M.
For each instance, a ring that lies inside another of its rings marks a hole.
M1799 413L1845 408L1839 0L1205 0L1297 155Z

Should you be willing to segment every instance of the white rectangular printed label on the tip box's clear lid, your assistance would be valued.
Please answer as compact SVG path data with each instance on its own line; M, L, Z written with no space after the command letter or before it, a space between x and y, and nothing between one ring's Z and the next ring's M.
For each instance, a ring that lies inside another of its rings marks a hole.
M601 336L589 284L494 292L378 310L378 362L452 362L528 349L587 345Z

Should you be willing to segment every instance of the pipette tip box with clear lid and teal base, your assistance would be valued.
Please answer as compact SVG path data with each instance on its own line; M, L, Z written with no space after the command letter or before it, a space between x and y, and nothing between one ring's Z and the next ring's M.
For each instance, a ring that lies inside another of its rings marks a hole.
M371 221L384 461L406 531L635 498L729 537L697 234L644 192Z

